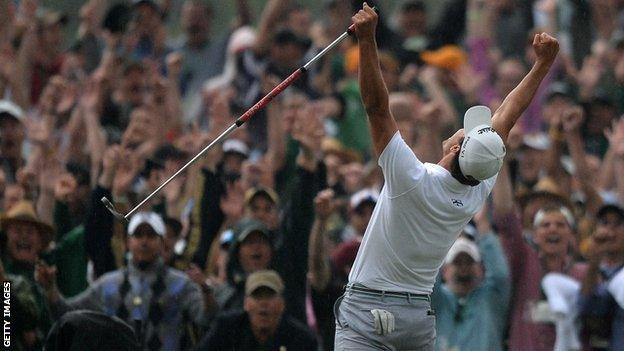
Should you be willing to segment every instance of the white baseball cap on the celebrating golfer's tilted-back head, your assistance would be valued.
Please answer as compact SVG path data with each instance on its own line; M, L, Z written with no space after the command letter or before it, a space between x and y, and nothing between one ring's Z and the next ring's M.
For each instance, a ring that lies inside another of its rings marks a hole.
M473 106L464 115L464 142L459 151L459 168L464 176L485 180L498 173L505 158L505 143L492 129L492 111Z

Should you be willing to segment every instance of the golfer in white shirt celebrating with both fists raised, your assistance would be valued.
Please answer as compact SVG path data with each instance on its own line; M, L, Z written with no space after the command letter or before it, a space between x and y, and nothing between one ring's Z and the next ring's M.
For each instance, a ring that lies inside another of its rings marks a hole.
M552 65L559 44L535 36L537 60L494 116L470 108L443 145L438 164L423 164L398 133L379 67L377 14L366 3L353 16L359 80L385 183L349 276L336 302L336 349L432 350L435 278L461 229L479 211L503 163L510 129Z

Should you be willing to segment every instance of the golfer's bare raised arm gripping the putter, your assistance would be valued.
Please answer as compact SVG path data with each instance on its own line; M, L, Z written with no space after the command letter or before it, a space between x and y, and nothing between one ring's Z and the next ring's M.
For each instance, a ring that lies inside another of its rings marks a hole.
M390 114L388 89L379 66L375 41L377 13L364 3L362 9L352 19L360 50L359 80L362 102L371 125L375 152L380 155L398 128Z

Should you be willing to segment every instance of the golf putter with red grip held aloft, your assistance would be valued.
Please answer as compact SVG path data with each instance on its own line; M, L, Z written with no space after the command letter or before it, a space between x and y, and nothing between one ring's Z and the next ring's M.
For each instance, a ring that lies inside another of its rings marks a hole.
M379 10L376 7L373 7L375 12L379 13ZM268 94L266 94L262 99L256 102L253 106L251 106L245 113L243 113L236 122L234 122L229 128L227 128L221 135L219 135L215 140L213 140L208 146L203 148L197 155L195 155L190 161L188 161L182 168L180 168L177 172L175 172L169 179L165 180L156 190L154 190L151 194L149 194L143 201L141 201L138 205L134 206L127 214L123 215L113 205L113 203L108 200L106 197L101 199L102 203L106 208L113 214L116 218L120 220L128 221L130 216L132 216L141 206L143 206L147 201L149 201L154 195L156 195L162 188L164 188L171 180L177 177L180 173L184 172L190 165L195 163L197 159L199 159L203 154L205 154L208 150L210 150L214 145L220 143L223 139L227 138L236 128L242 126L247 120L251 118L251 116L255 115L260 109L264 108L273 98L279 95L282 91L288 88L294 81L299 79L303 74L308 71L308 68L314 64L319 58L323 57L329 50L333 49L338 45L341 41L343 41L349 35L352 35L355 31L355 24L349 26L349 28L342 33L338 38L334 39L329 45L327 45L321 52L316 54L310 61L308 61L303 66L299 67L296 71L294 71L288 78L284 79L281 83L279 83L275 88L273 88Z

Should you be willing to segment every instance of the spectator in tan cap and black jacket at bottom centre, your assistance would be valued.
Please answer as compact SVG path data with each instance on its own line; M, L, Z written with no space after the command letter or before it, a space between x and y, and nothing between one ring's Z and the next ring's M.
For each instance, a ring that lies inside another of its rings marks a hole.
M198 351L316 351L310 331L284 315L284 283L277 272L262 270L245 283L245 309L221 315L201 341Z

